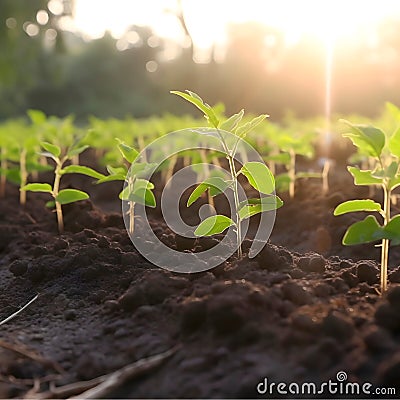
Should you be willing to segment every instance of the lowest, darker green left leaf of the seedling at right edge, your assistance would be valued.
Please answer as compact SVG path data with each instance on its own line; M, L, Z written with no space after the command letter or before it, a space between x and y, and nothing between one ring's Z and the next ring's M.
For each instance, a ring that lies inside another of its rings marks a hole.
M376 218L368 215L364 220L350 225L344 234L342 243L345 246L376 242L384 238L383 228Z

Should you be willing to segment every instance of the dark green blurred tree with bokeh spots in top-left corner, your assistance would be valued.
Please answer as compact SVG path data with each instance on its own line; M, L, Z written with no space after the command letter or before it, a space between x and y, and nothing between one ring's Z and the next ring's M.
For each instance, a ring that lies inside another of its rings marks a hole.
M29 90L43 72L45 41L60 40L57 19L70 2L52 1L54 12L48 0L0 2L0 118L24 112Z

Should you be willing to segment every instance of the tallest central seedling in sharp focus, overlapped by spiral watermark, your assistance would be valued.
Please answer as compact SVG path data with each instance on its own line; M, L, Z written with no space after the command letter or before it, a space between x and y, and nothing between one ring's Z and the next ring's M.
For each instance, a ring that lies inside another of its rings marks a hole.
M237 240L237 252L238 257L240 258L242 257L242 221L250 218L252 215L264 211L275 210L283 205L282 200L272 194L272 192L275 190L275 180L271 171L265 164L261 162L246 162L239 170L237 170L235 165L235 155L240 141L244 139L248 132L264 121L267 115L260 115L253 120L239 126L244 115L244 110L241 110L239 113L232 115L230 118L222 122L214 109L208 104L204 103L204 101L196 93L190 91L186 91L186 93L172 91L171 93L182 97L203 112L209 125L213 129L206 130L202 133L218 138L229 165L229 180L225 180L218 176L211 176L207 178L192 192L188 199L187 206L189 207L191 204L193 204L207 190L211 196L216 196L220 193L223 193L227 189L231 189L233 191L234 198L233 218L225 215L212 215L200 223L200 225L194 231L194 234L196 236L212 236L222 233L230 226L234 226ZM233 144L228 144L226 132L234 135L235 140ZM259 193L266 194L267 196L240 201L238 177L241 174L248 179L253 188L255 188Z

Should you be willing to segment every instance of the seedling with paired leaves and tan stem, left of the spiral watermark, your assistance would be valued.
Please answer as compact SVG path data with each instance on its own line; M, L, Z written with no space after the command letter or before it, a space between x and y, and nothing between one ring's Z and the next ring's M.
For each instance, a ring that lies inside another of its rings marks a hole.
M82 174L95 179L101 179L103 174L93 170L92 168L81 165L64 166L67 161L72 160L75 156L82 153L88 146L81 145L80 141L76 141L66 152L62 154L61 148L49 142L41 142L41 147L45 150L40 155L50 158L54 161L54 182L53 186L48 183L28 183L20 190L31 192L49 193L53 200L46 204L47 207L55 207L57 214L58 231L64 231L64 219L62 214L62 205L74 203L79 200L89 198L86 192L77 189L60 189L61 178L65 174Z

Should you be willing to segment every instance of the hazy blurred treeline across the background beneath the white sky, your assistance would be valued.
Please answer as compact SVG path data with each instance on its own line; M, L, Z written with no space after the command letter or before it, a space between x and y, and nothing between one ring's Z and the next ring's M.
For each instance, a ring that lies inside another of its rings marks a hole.
M73 9L73 0L63 3L67 11ZM324 111L326 53L318 38L288 45L284 35L270 27L232 25L225 56L221 59L214 49L208 63L195 63L188 56L192 49L165 57L169 44L163 38L150 46L154 34L146 27L132 26L138 43L123 50L110 34L85 41L61 30L64 14L54 15L47 6L48 0L0 1L0 119L25 115L30 108L57 116L72 113L78 121L89 115L192 113L189 106L171 100L171 88L191 88L210 104L223 101L228 114L244 107L255 114L268 111L277 120L288 109L298 116ZM49 15L43 25L36 23L41 9ZM32 36L25 29L29 21L38 29ZM360 40L336 44L336 112L374 116L384 101L400 103L399 25L396 20L382 23L377 47ZM53 36L56 32L54 40L49 40L49 30ZM154 72L146 69L149 62Z

